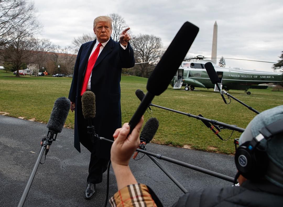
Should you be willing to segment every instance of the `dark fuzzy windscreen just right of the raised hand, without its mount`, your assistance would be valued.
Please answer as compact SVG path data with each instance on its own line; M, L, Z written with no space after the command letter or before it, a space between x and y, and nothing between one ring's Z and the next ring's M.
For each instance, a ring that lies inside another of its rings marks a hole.
M158 127L159 121L155 117L149 118L141 131L140 140L149 143L153 139Z

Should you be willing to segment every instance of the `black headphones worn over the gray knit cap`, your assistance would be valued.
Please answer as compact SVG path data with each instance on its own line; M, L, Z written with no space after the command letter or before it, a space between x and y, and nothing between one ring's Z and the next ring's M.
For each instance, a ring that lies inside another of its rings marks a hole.
M241 174L248 180L256 180L267 174L267 171L269 171L269 176L275 174L275 172L272 172L274 170L270 169L270 162L266 153L267 141L283 132L283 119L261 128L259 132L258 136L243 143L236 150L235 164L239 171L236 175L237 178ZM280 179L282 180L282 178Z

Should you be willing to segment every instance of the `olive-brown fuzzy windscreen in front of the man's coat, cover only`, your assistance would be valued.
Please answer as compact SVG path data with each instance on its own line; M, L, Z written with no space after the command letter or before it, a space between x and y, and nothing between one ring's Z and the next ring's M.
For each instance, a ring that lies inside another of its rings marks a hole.
M85 119L95 118L95 94L85 91L82 96L82 109Z

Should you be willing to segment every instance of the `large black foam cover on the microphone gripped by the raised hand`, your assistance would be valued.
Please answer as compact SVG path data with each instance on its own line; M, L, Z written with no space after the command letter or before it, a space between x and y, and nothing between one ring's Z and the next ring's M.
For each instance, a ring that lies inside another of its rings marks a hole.
M158 96L167 89L198 31L199 28L190 22L183 24L149 77L147 91Z

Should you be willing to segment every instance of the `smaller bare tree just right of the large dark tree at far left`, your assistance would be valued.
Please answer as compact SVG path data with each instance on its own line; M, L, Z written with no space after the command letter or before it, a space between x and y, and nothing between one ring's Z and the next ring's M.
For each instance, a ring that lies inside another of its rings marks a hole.
M36 39L35 50L37 51L34 60L38 65L38 70L41 70L43 67L48 52L52 49L52 44L49 39Z

